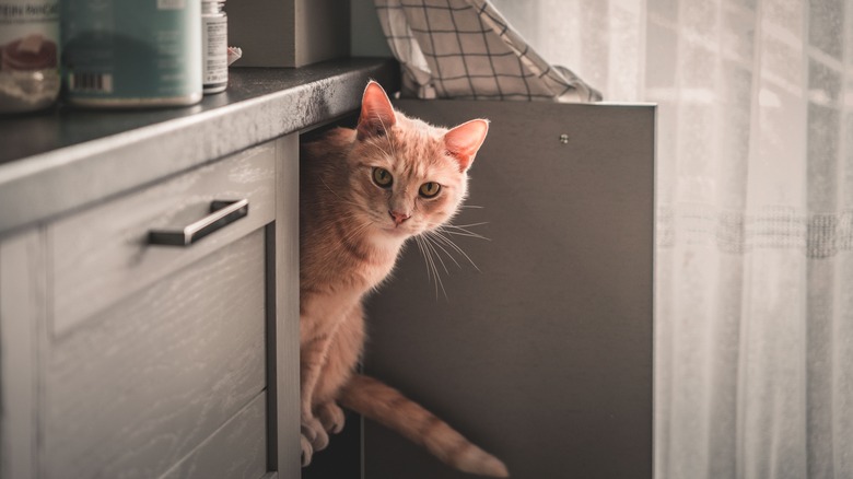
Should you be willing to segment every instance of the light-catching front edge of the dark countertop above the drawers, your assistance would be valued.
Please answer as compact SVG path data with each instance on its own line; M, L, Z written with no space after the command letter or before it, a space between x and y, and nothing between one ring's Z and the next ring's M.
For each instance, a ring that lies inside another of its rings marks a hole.
M397 75L395 62L377 59L1 165L0 235L354 112L369 79L396 85Z

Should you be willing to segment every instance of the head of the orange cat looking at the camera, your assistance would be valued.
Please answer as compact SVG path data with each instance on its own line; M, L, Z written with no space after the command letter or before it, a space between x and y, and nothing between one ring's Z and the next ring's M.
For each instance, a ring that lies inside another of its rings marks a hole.
M445 129L408 118L371 81L349 155L360 215L395 238L441 226L467 195L467 172L488 130L484 119Z

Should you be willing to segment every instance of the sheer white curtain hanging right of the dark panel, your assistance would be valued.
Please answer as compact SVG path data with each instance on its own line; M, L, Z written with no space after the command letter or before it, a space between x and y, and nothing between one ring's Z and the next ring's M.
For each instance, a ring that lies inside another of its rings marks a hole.
M853 0L494 0L658 107L655 474L853 478Z

